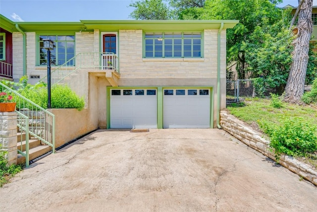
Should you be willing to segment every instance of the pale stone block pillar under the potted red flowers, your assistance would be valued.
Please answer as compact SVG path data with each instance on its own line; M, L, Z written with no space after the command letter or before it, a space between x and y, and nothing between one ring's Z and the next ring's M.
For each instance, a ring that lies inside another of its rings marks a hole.
M17 164L16 113L0 112L0 150L6 151L9 165Z

